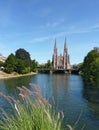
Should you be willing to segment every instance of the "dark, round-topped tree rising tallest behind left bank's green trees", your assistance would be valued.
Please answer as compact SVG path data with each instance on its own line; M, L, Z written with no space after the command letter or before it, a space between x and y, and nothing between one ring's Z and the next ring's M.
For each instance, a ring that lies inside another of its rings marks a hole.
M30 67L31 64L31 58L29 52L27 52L25 49L18 49L15 52L15 57L17 59L21 59L24 61L25 67Z

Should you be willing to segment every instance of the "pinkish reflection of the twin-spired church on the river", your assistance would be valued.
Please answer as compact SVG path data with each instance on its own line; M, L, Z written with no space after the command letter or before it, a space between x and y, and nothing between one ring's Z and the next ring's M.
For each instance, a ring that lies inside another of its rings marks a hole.
M60 103L62 103L62 100L66 101L68 95L68 82L69 75L53 75L53 97L57 107L61 106Z

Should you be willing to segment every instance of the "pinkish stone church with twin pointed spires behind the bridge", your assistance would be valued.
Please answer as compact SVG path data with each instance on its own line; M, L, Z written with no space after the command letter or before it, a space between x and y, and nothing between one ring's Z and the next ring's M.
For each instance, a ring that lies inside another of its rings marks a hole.
M69 55L68 55L68 48L66 46L66 39L65 39L65 43L64 43L63 56L61 54L60 54L60 56L58 56L57 43L56 43L56 40L55 40L52 63L53 63L54 69L64 69L64 70L70 70L71 69L70 59L69 59Z

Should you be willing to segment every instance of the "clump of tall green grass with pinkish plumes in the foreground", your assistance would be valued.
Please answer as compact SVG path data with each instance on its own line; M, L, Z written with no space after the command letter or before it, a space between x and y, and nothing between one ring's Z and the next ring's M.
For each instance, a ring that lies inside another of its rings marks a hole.
M41 96L38 86L30 84L35 91L18 87L19 100L0 93L12 108L9 114L2 110L0 130L62 130L63 112L55 112ZM70 125L67 125L73 130Z

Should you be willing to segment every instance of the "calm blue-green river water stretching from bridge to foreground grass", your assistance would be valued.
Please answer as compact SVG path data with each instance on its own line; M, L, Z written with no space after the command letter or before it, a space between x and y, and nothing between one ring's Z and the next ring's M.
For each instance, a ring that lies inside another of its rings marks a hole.
M54 100L59 111L64 112L63 126L75 126L75 130L99 130L99 104L89 102L84 96L84 84L78 75L38 74L28 77L0 80L0 92L17 97L17 86L29 83L39 86L42 95L49 101ZM0 97L0 107L9 105Z

